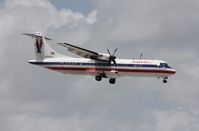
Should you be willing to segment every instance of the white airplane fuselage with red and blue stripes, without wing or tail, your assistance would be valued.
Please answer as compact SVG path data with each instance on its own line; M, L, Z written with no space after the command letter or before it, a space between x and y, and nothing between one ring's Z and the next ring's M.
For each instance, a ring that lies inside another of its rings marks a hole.
M93 75L105 74L106 78L123 76L168 78L176 73L161 60L116 59L117 65L85 58L46 58L42 61L30 60L29 63L42 66L64 74ZM162 65L163 64L163 65Z

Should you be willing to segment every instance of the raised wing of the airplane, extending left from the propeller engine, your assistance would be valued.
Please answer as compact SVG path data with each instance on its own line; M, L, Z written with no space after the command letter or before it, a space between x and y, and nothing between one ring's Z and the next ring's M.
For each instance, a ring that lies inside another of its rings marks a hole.
M78 46L74 46L74 45L68 44L68 43L57 43L57 44L67 48L68 51L75 53L76 55L79 55L81 57L89 58L92 60L104 61L104 60L99 59L100 54L97 52L90 51L90 50L87 50L87 49L84 49L84 48L81 48Z

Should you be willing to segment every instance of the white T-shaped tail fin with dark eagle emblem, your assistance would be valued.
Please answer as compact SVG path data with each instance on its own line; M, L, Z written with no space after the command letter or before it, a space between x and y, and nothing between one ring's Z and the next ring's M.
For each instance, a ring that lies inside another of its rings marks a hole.
M26 36L30 36L35 40L35 54L36 60L43 60L45 58L53 58L58 54L48 45L46 40L51 40L45 37L42 33L23 33Z

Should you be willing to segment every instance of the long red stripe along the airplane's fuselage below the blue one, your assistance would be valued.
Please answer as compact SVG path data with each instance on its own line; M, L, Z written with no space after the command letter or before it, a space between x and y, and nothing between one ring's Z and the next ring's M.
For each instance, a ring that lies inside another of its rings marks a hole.
M118 69L118 68L79 68L79 67L46 67L51 70L68 70L68 71L118 71L118 72L134 72L134 73L165 73L165 74L175 74L175 71L170 70L151 70L151 69Z

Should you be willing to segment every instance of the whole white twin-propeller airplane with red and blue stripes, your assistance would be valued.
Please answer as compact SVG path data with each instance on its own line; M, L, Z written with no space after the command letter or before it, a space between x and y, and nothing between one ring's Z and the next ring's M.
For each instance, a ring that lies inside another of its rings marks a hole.
M72 58L55 52L48 44L42 33L24 33L35 40L36 59L29 60L30 64L38 65L64 74L92 75L97 81L109 78L110 84L115 84L116 78L124 76L162 78L167 83L169 76L176 73L162 60L119 59L114 53L97 53L68 43L58 43L68 51L83 58Z

